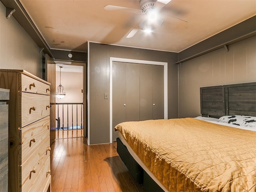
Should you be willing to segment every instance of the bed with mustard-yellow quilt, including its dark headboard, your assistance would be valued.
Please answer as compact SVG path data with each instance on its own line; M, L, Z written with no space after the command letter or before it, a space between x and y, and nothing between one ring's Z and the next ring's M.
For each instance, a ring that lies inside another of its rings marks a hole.
M200 102L197 118L118 124L121 159L146 191L255 192L256 83L200 88Z

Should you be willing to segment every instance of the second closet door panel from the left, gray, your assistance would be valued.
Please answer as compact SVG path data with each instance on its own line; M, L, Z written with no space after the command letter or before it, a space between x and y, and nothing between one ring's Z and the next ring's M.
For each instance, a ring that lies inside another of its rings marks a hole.
M126 64L126 121L140 120L140 64Z

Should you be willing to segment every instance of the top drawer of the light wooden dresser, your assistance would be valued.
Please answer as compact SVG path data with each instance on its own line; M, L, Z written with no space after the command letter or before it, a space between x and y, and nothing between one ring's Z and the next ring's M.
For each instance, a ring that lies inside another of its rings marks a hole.
M19 90L22 92L50 95L50 85L24 74L19 74Z

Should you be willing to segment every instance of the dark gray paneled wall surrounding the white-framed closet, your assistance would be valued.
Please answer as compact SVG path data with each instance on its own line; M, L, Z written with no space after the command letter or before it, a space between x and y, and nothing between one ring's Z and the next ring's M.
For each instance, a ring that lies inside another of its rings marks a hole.
M168 118L178 117L177 53L89 43L90 144L109 143L110 57L168 62ZM111 133L112 134L112 133Z

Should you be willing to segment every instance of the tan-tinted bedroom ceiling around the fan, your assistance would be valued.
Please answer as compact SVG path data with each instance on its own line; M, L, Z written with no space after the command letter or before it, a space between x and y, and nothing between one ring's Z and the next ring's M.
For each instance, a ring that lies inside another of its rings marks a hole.
M139 9L139 0L20 1L51 49L81 52L87 41L180 52L256 15L256 0L172 0L160 10L162 26L126 38L141 15L104 6Z

